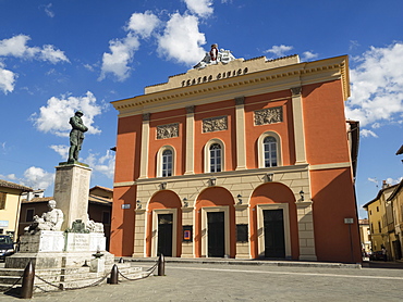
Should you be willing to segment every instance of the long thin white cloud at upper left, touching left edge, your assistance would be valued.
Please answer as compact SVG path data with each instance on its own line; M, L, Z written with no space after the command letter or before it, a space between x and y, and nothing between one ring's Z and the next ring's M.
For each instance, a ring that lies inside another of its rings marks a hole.
M40 61L49 61L50 63L70 62L64 52L54 49L51 45L45 45L42 48L28 47L26 43L30 37L17 35L10 39L0 40L0 55L15 56L22 59L36 59Z

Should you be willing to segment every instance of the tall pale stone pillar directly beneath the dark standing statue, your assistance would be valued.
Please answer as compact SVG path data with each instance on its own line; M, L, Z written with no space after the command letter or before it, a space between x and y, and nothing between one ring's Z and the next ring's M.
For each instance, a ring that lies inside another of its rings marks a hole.
M91 169L83 164L60 163L56 167L53 198L64 214L62 230L76 219L88 219L88 194Z

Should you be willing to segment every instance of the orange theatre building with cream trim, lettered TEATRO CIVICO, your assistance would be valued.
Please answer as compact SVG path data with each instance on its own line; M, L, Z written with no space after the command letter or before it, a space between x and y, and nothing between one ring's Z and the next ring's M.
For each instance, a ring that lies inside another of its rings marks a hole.
M207 64L112 102L110 251L361 262L347 56Z

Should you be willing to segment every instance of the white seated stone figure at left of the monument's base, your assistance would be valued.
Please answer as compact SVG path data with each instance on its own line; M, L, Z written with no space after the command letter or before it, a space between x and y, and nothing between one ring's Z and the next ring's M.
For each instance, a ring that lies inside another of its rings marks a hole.
M29 234L35 234L38 230L60 230L63 224L63 212L56 209L56 201L49 200L49 211L44 213L40 217L34 216L34 222L25 230Z

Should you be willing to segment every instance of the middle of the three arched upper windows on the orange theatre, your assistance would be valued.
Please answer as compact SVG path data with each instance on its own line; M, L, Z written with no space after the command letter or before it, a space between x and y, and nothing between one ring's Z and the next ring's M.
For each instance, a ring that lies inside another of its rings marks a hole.
M216 173L225 171L224 144L218 139L209 140L205 146L205 173Z

